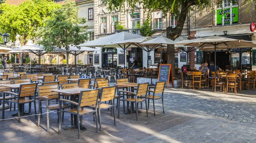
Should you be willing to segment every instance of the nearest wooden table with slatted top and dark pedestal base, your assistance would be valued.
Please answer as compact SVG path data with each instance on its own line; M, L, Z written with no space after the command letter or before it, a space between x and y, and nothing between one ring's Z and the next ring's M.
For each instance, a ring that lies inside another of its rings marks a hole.
M62 93L62 94L69 94L69 95L72 95L72 96L77 96L77 97L74 97L72 99L74 99L73 101L75 102L78 102L78 95L81 93L81 91L86 91L86 90L92 90L90 88L82 88L82 87L78 87L78 88L70 88L70 89L64 89L64 90L52 90L52 92L57 92L57 93ZM74 105L72 106L72 109L75 108ZM71 121L74 122L74 125L73 125L73 122L71 125L65 127L64 129L70 129L70 128L76 128L77 127L77 115L74 115L74 120L72 119L72 115L71 115ZM86 128L84 126L81 126L80 125L80 129L81 130L85 130Z

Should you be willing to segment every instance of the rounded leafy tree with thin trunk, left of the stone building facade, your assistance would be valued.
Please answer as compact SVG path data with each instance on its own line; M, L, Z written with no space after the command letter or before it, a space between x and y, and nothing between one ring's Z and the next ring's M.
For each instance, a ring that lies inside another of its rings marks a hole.
M68 0L61 8L52 11L52 17L45 20L45 25L39 29L45 50L52 51L54 47L65 48L67 52L70 45L79 45L88 39L85 18L78 17L76 3Z

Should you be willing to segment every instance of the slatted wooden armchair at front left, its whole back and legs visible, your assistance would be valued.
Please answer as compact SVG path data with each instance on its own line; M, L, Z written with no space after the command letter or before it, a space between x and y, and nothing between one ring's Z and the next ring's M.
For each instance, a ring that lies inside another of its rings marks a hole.
M9 95L17 96L17 100L9 100L7 102L17 104L17 107L18 107L18 122L20 122L20 111L23 110L23 109L20 109L20 106L19 106L20 104L29 103L29 113L31 112L31 103L32 102L34 102L34 107L35 107L35 100L33 98L36 95L36 87L37 87L37 83L20 84L20 88L19 88L20 90L19 90L18 94L17 93L12 93L12 92L9 92L9 91L4 91L3 92L4 94L7 93ZM27 99L27 98L29 98L29 99ZM4 104L4 102L5 101L3 101L3 104ZM4 108L3 108L3 117L4 117ZM35 107L35 118L37 118L36 107Z

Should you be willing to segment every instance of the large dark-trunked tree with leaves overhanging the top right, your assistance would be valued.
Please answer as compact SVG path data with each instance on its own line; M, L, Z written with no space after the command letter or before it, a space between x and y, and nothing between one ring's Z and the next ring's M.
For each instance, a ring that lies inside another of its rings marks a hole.
M236 0L230 0L236 1ZM175 28L168 27L167 38L175 40L180 36L184 22L186 20L189 9L196 7L200 11L212 10L212 3L222 2L222 0L107 0L108 9L110 11L118 8L120 11L125 7L131 7L134 11L137 4L143 5L143 8L148 11L148 18L151 12L160 10L163 11L163 17L167 14L176 15L178 17L177 26ZM168 63L172 64L173 73L175 73L174 62L175 62L175 49L174 45L168 45Z

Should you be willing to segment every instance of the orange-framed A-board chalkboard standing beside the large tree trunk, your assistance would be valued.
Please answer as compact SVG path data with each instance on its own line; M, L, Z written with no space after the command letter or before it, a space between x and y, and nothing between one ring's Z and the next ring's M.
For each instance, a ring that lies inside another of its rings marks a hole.
M171 82L173 87L172 64L160 64L158 72L158 81L166 81L167 87L169 87L169 82Z

